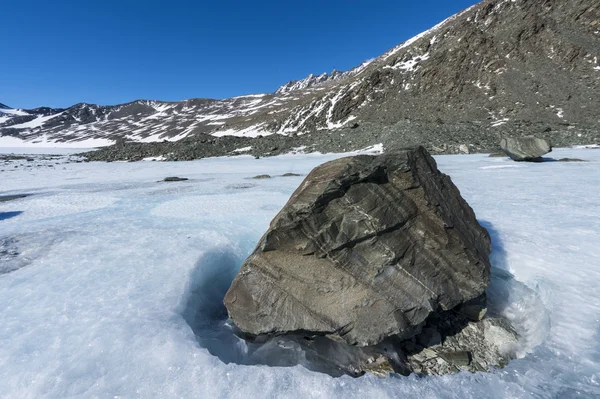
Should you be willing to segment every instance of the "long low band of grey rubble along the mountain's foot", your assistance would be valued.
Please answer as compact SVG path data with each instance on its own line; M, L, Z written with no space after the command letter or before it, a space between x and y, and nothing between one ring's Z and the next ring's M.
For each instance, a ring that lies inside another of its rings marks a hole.
M121 146L103 147L97 151L78 154L88 161L140 161L148 157L163 157L166 161L189 161L201 158L228 156L232 151L252 147L245 154L266 157L287 153L341 153L358 151L376 144L386 149L398 149L411 145L423 145L435 154L459 154L459 143L468 143L471 153L501 151L499 137L526 137L539 133L541 126L530 123L507 123L496 128L483 128L474 123L444 125L418 121L400 121L393 126L363 123L355 130L340 129L326 134L303 134L282 136L278 134L262 138L212 137L199 134L175 142L125 143ZM557 126L544 137L560 147L579 143L596 142L597 129L574 126ZM271 151L277 147L277 151Z

